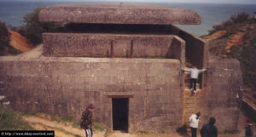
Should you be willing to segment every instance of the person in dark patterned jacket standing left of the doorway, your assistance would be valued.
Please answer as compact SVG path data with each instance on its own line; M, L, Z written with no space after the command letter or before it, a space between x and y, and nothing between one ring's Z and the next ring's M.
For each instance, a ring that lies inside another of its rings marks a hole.
M92 137L92 111L94 106L90 104L82 114L80 128L84 128L86 137Z

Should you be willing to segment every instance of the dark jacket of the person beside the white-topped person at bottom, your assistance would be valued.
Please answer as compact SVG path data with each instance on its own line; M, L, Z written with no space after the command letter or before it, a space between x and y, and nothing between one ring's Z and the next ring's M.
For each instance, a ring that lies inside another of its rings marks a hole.
M201 137L218 137L218 128L216 128L213 124L205 124L201 128Z

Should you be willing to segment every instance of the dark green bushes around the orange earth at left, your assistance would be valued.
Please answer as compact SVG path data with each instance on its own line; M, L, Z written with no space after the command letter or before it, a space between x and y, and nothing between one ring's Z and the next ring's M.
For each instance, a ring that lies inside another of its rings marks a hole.
M33 45L38 45L43 43L42 34L45 31L53 31L57 29L60 25L54 23L44 23L39 22L38 14L42 8L37 8L32 11L32 13L26 14L23 17L24 26L20 28L15 28L12 26L7 27L4 22L0 21L0 55L9 54L20 54L21 51L13 48L9 45L9 29L18 31L22 36L26 37Z

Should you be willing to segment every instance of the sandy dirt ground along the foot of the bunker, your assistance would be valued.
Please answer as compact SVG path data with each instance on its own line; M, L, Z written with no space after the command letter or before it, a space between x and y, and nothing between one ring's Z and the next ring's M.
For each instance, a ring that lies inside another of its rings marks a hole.
M73 123L69 122L57 122L50 120L50 117L45 114L39 114L36 116L26 115L25 119L32 128L38 130L55 130L55 137L85 137L84 130L81 128L74 128ZM244 115L240 115L239 119L239 133L236 134L218 134L218 137L243 137L244 136L244 126L246 124L247 117ZM256 126L253 125L254 132ZM122 133L120 131L108 132L108 135L105 134L106 131L94 131L93 137L189 137L190 133L187 135L181 135L177 133L172 134L157 134L157 133L149 133L149 134L129 134ZM200 134L198 134L200 137Z

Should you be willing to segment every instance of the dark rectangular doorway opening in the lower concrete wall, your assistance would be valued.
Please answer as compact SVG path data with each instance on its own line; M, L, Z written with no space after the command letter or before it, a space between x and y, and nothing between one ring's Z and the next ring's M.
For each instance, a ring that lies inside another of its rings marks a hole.
M113 130L128 132L129 98L113 98Z

